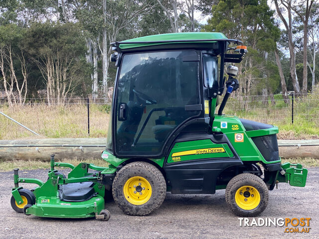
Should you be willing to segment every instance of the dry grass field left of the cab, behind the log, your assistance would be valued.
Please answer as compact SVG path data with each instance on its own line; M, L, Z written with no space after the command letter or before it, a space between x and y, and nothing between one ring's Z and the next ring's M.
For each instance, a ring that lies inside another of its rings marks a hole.
M0 107L0 111L40 135L36 136L13 121L0 116L0 140L89 137L85 105L47 106L39 104L12 108L4 106ZM91 104L90 137L106 137L108 124L107 108Z

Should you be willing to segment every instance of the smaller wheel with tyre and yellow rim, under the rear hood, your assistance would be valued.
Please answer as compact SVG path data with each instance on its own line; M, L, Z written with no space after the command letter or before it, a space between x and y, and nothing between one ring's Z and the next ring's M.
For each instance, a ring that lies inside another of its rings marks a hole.
M225 191L226 203L239 217L255 217L268 205L268 188L258 176L242 173L233 177Z

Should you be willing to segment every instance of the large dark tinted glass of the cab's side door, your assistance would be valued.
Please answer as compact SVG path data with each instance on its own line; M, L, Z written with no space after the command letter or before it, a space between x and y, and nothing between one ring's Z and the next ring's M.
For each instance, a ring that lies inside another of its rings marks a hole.
M175 127L198 115L185 111L185 106L199 104L198 61L184 60L194 55L196 51L124 55L116 101L118 152L157 154Z

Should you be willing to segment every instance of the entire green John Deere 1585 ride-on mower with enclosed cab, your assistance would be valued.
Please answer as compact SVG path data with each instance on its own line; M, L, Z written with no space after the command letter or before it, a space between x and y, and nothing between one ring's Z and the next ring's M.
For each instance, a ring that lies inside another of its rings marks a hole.
M307 169L281 163L278 127L222 114L239 85L234 63L247 52L241 41L217 32L187 32L114 42L111 48L118 70L102 153L109 167L53 161L46 183L19 178L14 171L16 211L106 219L103 197L112 192L126 214L145 216L160 207L166 192L226 189L230 210L254 217L265 210L268 191L277 183L306 185ZM73 170L65 178L54 166ZM18 182L39 187L29 192ZM91 193L80 197L86 190Z

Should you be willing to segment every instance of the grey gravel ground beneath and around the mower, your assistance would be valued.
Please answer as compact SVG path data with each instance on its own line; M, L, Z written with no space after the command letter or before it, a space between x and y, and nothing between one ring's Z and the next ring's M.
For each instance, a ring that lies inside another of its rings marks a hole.
M45 180L46 170L19 171L22 177ZM284 233L285 227L240 227L238 217L227 208L224 193L214 195L173 195L167 193L160 209L147 217L122 213L113 201L105 207L108 222L95 219L48 219L25 216L10 206L13 173L0 173L0 239L157 239L157 238L319 238L319 168L309 169L305 188L279 184L270 191L267 209L260 218L311 218L310 233ZM22 185L23 186L23 185ZM24 185L31 188L32 185ZM31 186L31 187L30 187ZM256 218L257 219L257 218ZM252 220L252 219L250 219Z

